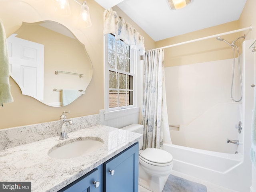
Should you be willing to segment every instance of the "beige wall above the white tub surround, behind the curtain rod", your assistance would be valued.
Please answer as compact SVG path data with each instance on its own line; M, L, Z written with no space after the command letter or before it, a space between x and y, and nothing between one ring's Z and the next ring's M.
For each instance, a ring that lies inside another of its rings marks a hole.
M168 38L156 42L156 47L168 46L180 42L212 36L238 29L238 21L205 28L188 34ZM228 42L238 37L238 33L221 36ZM239 45L239 42L236 43ZM209 38L184 45L166 48L164 50L165 67L187 65L213 60L222 60L233 57L233 49L223 41Z

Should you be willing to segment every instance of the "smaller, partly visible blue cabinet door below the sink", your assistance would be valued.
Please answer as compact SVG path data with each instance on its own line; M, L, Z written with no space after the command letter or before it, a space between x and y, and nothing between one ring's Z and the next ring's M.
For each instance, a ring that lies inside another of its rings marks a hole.
M72 182L59 192L103 192L103 165L85 174L78 180ZM95 186L94 182L99 182Z

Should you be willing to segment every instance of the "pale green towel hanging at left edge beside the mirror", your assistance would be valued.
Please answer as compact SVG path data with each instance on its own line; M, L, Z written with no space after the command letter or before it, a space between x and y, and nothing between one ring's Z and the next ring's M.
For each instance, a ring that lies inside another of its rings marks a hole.
M13 102L9 82L9 54L4 24L0 20L0 104Z

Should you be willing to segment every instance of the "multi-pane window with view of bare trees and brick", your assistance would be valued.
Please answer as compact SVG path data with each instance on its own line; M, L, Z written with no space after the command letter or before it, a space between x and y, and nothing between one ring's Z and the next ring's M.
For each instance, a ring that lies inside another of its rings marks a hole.
M113 34L107 34L105 38L105 107L108 108L107 111L133 107L134 54L129 45L125 44L123 40L115 40Z

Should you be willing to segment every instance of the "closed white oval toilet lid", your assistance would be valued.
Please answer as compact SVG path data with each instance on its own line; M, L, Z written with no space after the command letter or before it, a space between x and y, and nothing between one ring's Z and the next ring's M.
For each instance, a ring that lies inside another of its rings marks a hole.
M141 154L140 157L154 163L170 163L172 162L172 155L167 151L155 148L146 148Z

